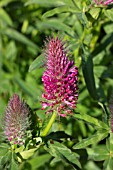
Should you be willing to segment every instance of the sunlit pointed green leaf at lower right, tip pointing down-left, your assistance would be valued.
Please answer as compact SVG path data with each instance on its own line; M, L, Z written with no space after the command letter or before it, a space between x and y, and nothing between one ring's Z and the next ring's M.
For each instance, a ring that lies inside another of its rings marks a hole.
M81 142L77 143L76 145L73 146L73 149L81 149L85 148L88 145L91 144L96 144L99 141L103 140L108 136L108 131L98 131L94 135L90 136L87 139L82 139Z

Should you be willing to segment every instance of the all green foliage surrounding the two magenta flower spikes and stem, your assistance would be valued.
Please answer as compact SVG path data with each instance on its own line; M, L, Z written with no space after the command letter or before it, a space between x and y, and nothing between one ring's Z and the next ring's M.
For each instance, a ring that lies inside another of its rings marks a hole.
M113 91L113 7L91 2L0 1L0 133L13 93L36 113L25 147L11 148L0 134L0 170L112 170L108 105ZM46 37L57 34L67 41L79 68L79 99L73 116L57 118L41 138L51 116L40 104L46 63L42 51Z

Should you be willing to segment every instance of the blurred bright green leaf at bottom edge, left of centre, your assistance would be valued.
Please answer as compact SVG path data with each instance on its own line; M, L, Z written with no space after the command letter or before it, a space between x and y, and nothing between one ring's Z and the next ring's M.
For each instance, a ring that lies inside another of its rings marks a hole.
M30 161L27 161L30 163L32 170L36 170L40 166L43 166L46 162L48 162L51 158L50 154L44 154L44 155L39 155L35 158L32 158Z

